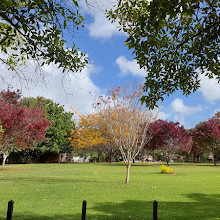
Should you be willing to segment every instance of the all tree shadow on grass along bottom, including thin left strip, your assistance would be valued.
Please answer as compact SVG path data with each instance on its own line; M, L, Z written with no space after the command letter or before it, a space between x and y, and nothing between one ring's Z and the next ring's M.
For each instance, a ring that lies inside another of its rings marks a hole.
M190 202L158 201L159 220L220 219L220 194L188 194ZM89 201L88 201L89 203ZM98 214L92 214L92 212ZM87 209L87 220L150 220L153 219L153 201L127 200L122 203L99 203ZM80 220L81 213L73 215L16 214L13 220Z

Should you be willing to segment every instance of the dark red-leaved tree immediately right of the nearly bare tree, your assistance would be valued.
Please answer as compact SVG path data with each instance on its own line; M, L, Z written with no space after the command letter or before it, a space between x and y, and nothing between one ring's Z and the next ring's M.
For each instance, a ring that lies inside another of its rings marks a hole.
M148 132L151 139L145 148L165 151L167 165L177 150L185 152L188 158L192 141L185 128L179 123L157 120L151 124Z

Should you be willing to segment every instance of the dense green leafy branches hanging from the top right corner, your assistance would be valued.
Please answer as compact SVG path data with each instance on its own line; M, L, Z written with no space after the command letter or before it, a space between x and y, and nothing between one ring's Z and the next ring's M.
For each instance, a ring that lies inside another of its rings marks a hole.
M120 0L108 12L127 33L125 44L146 70L142 102L200 86L200 73L220 80L220 2L216 0Z

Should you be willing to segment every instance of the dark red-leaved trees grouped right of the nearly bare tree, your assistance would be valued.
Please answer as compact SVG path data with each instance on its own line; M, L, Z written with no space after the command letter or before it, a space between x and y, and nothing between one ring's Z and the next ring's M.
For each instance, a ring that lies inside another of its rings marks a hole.
M145 149L162 151L167 164L175 154L184 153L185 161L189 161L192 154L193 162L196 157L206 153L210 155L216 165L220 157L220 120L219 113L204 122L200 122L192 129L186 130L179 123L157 120L151 125L151 140Z

